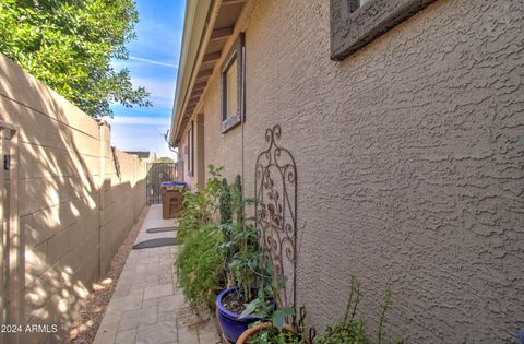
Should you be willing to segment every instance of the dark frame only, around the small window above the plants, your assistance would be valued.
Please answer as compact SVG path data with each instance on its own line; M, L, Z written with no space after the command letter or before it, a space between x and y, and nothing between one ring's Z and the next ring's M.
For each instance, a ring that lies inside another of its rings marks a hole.
M221 69L221 130L225 133L246 120L245 118L245 35L240 33ZM237 62L237 112L227 117L227 71Z

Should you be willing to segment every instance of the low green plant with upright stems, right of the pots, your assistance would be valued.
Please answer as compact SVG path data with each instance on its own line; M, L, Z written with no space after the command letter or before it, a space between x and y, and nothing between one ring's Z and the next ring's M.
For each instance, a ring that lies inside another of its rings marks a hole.
M323 335L314 339L314 344L383 344L386 343L384 335L385 312L391 307L392 293L388 289L379 317L378 340L374 341L365 330L365 319L356 316L361 299L360 282L352 276L349 299L346 306L344 319L334 325L329 325ZM395 340L393 343L402 343Z

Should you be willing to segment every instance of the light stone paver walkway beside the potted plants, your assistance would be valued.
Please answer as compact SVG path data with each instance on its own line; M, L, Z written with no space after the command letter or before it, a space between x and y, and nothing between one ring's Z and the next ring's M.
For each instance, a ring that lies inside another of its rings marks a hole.
M152 205L136 242L174 237L176 232L148 234L168 227L162 206ZM96 333L95 344L215 344L221 343L213 320L193 313L177 288L174 261L178 246L131 250L109 306ZM205 312L204 312L205 313Z

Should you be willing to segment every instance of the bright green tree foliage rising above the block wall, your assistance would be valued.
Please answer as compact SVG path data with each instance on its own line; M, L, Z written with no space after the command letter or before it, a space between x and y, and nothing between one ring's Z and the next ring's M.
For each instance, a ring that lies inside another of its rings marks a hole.
M111 103L151 106L133 88L126 43L139 21L133 0L0 0L0 51L93 117Z

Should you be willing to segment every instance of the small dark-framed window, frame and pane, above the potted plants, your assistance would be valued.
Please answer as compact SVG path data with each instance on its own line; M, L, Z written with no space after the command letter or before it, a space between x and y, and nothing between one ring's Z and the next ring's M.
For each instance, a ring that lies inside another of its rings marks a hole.
M229 51L221 73L222 132L226 132L243 120L243 34Z

